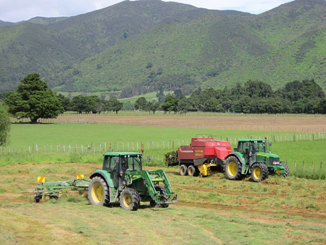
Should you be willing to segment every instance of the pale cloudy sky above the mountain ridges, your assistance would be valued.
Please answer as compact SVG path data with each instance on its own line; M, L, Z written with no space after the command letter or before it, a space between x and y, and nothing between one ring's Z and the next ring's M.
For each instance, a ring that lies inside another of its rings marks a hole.
M133 0L139 1L139 0ZM140 0L141 1L141 0ZM163 0L190 4L198 8L238 10L259 14L293 0ZM0 20L18 22L36 16L75 16L102 9L122 0L0 0Z

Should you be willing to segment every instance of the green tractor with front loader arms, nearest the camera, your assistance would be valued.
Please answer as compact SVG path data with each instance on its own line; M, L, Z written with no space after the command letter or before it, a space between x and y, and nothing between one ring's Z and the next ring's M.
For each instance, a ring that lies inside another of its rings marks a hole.
M105 153L102 169L90 179L88 198L92 205L112 206L119 201L123 209L135 211L141 201L158 208L177 202L165 171L143 170L141 153Z

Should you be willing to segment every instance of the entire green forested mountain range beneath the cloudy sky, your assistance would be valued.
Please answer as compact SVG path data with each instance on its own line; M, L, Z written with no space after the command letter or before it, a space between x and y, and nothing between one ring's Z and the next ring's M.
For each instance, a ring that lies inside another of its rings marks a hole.
M57 91L273 89L314 79L326 89L326 1L259 15L159 0L125 1L73 17L0 21L0 91L40 73Z

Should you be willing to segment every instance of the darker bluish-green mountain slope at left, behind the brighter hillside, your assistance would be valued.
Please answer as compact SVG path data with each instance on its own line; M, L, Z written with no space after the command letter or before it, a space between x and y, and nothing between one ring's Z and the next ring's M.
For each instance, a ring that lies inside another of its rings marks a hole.
M74 63L192 9L196 8L161 1L125 1L74 17L36 17L0 27L0 91L13 90L20 79L33 72L40 73L50 87L66 84L69 88L69 77L58 74ZM210 11L198 10L199 14L204 12ZM78 74L73 71L73 75Z

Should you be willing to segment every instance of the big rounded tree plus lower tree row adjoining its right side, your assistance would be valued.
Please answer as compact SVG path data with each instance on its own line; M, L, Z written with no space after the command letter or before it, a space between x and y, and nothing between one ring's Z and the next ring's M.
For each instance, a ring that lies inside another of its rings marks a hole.
M115 111L118 113L123 104L117 99L101 100L98 96L77 95L72 99L53 93L39 74L30 74L20 80L16 92L8 92L4 102L8 112L16 118L30 118L36 123L39 118L56 118L65 111L78 113L99 113Z

